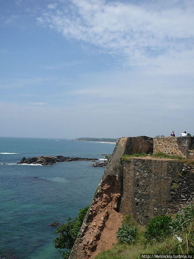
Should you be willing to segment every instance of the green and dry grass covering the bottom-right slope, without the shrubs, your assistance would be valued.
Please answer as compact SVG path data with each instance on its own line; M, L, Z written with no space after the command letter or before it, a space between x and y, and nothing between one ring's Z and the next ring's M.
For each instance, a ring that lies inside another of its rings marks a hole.
M139 226L139 233L135 243L116 244L112 249L103 251L95 256L94 259L140 259L141 254L194 254L194 220L191 219L187 228L183 231L175 232L178 237L183 238L183 242L179 242L173 233L164 237L163 241L145 240L145 227ZM174 233L174 234L175 234Z

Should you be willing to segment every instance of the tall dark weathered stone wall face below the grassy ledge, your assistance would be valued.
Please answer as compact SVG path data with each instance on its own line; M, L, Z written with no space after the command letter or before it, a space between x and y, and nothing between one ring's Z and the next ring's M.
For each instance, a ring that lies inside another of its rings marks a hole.
M119 212L139 223L177 212L194 199L194 166L171 159L123 161L123 195Z

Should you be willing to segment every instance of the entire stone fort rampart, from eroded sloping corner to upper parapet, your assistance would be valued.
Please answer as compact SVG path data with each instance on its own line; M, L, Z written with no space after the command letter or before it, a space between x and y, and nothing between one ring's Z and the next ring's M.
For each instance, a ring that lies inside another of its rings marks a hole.
M177 212L194 200L194 166L172 159L147 157L132 157L120 163L124 153L167 152L168 143L168 148L174 146L168 151L170 155L185 156L187 137L154 138L153 141L140 136L117 140L69 259L94 258L99 252L110 249L117 242L115 234L125 214L146 224L151 217Z

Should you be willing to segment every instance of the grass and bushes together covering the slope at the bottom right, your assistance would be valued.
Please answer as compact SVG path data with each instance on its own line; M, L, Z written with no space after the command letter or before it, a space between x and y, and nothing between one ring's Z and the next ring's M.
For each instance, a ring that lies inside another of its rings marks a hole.
M193 204L177 213L172 220L168 216L157 216L149 221L146 230L142 226L138 228L135 242L118 243L112 249L98 254L95 259L140 259L141 254L194 255ZM148 240L145 233L149 233Z

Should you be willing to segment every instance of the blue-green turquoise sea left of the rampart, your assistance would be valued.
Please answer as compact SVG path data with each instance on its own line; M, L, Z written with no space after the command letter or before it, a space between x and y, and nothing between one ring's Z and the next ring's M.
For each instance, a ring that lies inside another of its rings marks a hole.
M17 165L22 157L63 155L103 158L115 144L62 139L0 138L0 255L19 259L60 259L56 227L91 203L105 167L92 161L49 166ZM4 164L5 163L5 164Z

